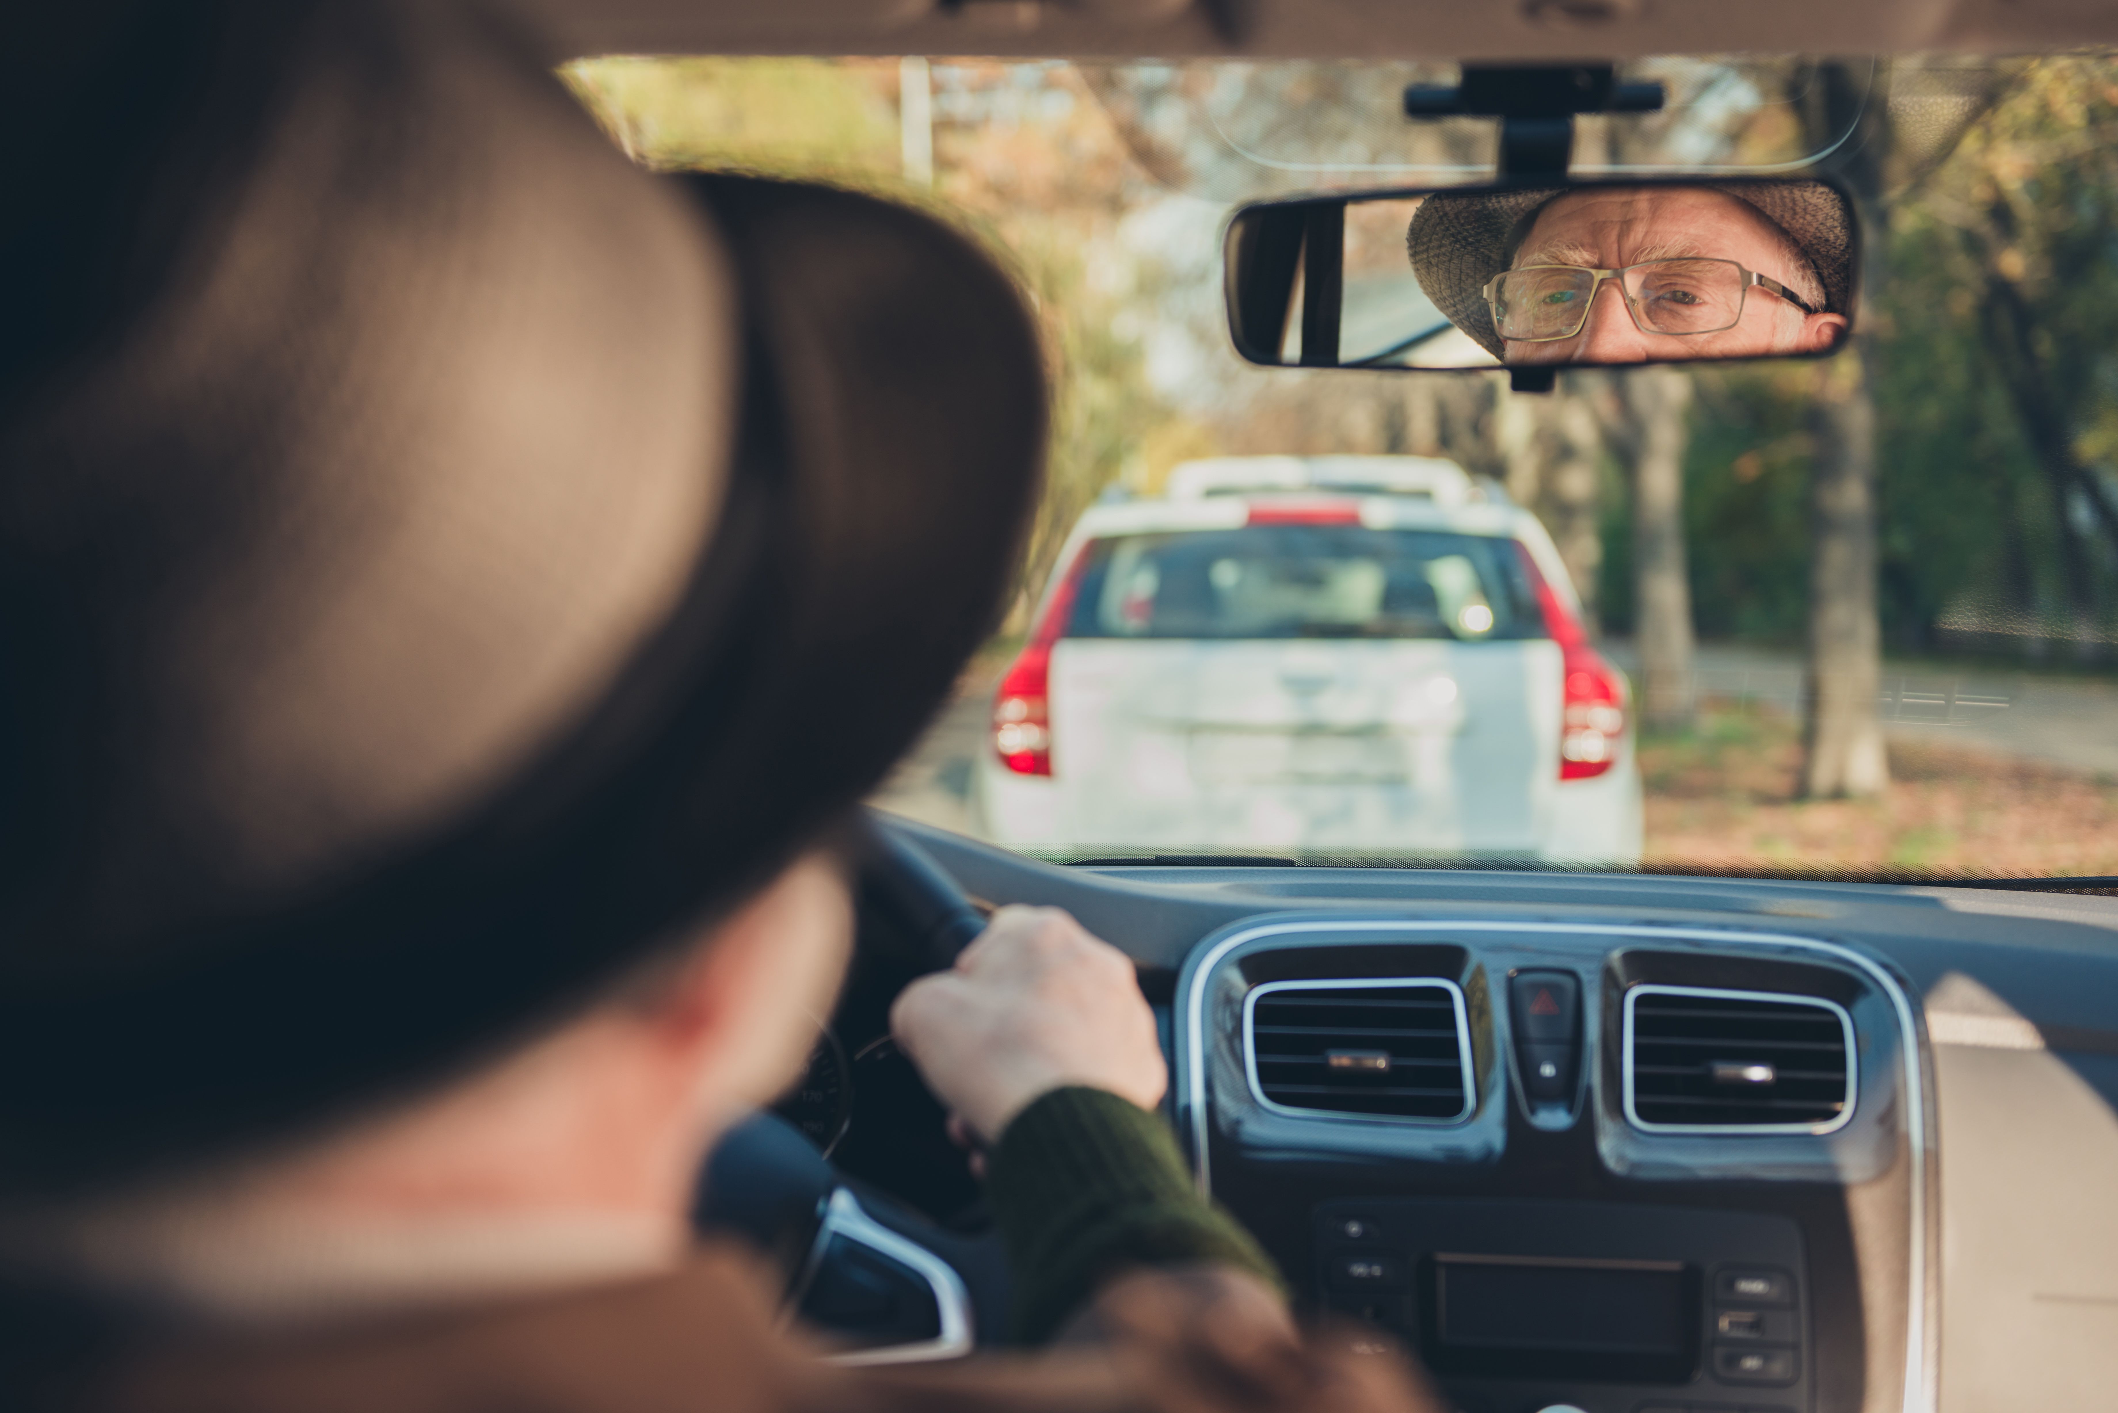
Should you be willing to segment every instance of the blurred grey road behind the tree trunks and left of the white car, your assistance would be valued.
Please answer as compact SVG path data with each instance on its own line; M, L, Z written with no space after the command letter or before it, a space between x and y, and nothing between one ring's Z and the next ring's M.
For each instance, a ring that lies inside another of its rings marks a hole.
M1627 672L1627 642L1603 648ZM1705 644L1699 693L1794 714L1802 705L1802 663L1794 652ZM985 750L993 676L966 676L932 731L913 748L875 803L943 828L970 830L970 771ZM1883 665L1883 725L1891 739L1957 741L2084 775L2118 777L2118 680L2065 678L2008 667L1936 669Z

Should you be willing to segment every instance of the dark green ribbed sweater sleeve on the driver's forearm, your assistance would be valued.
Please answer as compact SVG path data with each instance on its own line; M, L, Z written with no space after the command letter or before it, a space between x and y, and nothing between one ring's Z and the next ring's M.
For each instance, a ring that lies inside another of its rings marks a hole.
M1017 1339L1048 1339L1135 1265L1226 1263L1284 1288L1252 1235L1199 1195L1163 1119L1103 1089L1055 1089L1017 1114L987 1184Z

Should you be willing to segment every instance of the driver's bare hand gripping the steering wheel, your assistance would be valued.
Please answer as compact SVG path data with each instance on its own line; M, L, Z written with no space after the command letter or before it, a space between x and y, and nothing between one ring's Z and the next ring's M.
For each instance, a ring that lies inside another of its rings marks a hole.
M1053 1089L1089 1085L1154 1108L1169 1087L1131 960L1053 907L993 913L953 970L904 987L890 1030L985 1144Z

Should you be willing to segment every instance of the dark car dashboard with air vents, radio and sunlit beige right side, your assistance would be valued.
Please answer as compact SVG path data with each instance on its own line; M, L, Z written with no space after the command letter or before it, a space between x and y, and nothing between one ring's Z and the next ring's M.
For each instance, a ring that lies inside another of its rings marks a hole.
M2118 1407L2114 898L1059 869L892 826L1135 958L1201 1188L1461 1413ZM854 979L790 1114L962 1250L890 989Z

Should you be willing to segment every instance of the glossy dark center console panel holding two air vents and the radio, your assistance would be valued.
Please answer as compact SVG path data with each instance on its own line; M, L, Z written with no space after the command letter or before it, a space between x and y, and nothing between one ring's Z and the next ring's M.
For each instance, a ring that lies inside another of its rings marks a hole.
M1828 941L1245 919L1178 979L1201 1184L1461 1413L1917 1409L1917 1023Z

